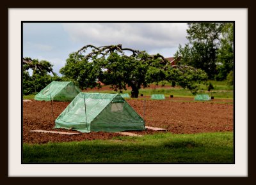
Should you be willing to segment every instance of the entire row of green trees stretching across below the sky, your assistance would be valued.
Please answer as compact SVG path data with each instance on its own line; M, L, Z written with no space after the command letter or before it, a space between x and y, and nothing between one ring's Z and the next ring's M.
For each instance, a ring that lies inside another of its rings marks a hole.
M115 91L132 88L132 97L152 82L166 80L196 94L207 79L233 82L234 27L232 23L189 23L188 40L175 53L176 66L170 66L160 54L122 48L122 45L95 47L86 45L69 55L61 68L62 77L52 71L49 61L23 59L23 94L33 94L56 81L73 81L81 89L99 87L98 81ZM130 52L128 55L127 52ZM33 72L29 75L28 70ZM50 75L52 73L52 75Z

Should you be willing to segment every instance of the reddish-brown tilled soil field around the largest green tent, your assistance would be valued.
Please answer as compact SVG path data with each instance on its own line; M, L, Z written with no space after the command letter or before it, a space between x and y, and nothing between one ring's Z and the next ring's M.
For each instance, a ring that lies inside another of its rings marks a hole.
M148 99L148 98L147 98ZM143 114L144 98L127 100L138 114L145 119L146 126L165 128L171 133L205 133L232 131L232 100L214 99L207 102L193 101L193 98L166 98L166 100L147 100ZM77 132L67 129L53 129L54 119L61 114L69 102L24 101L23 102L23 142L44 144L47 142L70 142L81 140L109 139L122 136L119 133L92 132L79 135L60 135L56 133L36 133L30 130ZM52 108L54 117L52 116ZM163 131L129 131L147 135Z

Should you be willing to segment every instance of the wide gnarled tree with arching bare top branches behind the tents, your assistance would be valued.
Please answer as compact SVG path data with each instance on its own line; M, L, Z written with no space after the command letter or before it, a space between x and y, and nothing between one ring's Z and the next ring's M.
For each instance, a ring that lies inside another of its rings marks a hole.
M198 84L207 80L203 70L187 65L171 66L160 54L149 55L122 45L86 45L69 55L60 73L74 80L81 89L100 87L99 81L120 93L131 87L132 98L138 98L141 87L162 80L196 94Z

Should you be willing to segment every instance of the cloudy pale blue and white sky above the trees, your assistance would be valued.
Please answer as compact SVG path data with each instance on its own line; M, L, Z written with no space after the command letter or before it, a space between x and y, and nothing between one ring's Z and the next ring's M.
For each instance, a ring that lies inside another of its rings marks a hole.
M68 54L84 45L118 45L173 57L188 43L185 23L24 23L23 57L51 62L60 75Z

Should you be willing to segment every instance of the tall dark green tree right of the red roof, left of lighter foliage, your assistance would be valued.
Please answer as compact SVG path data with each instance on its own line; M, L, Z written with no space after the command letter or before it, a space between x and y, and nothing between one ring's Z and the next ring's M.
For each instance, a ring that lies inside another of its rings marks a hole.
M180 64L188 64L204 70L209 78L216 73L216 50L222 24L189 23L187 29L189 44L179 47L175 57L181 56Z

